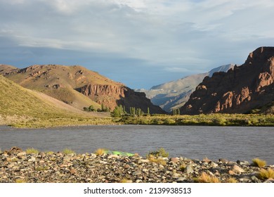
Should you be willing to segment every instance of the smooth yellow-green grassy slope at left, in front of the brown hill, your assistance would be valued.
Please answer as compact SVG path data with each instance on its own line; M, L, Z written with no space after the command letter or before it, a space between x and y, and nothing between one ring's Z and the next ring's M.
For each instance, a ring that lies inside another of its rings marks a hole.
M96 117L97 116L97 117ZM110 123L103 113L84 113L0 75L0 125L54 127Z

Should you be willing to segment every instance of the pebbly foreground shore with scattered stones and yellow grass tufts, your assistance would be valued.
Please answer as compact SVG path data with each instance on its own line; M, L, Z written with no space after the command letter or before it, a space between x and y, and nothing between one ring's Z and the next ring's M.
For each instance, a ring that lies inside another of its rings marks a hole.
M269 172L263 177L260 172ZM139 155L29 153L20 148L0 153L0 182L50 183L273 183L274 165L226 159L142 158ZM210 179L208 179L210 178Z

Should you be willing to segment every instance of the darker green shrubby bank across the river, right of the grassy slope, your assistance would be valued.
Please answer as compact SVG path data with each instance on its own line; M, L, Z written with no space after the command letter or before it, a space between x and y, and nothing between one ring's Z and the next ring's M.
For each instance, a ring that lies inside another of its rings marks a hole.
M113 121L126 125L201 125L274 127L273 114L124 115Z

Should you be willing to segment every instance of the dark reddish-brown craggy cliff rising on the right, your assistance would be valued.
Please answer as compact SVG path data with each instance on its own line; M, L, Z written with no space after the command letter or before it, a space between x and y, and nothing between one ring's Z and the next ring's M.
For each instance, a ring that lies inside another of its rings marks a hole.
M181 113L247 113L274 101L273 81L274 47L260 47L240 67L204 77Z

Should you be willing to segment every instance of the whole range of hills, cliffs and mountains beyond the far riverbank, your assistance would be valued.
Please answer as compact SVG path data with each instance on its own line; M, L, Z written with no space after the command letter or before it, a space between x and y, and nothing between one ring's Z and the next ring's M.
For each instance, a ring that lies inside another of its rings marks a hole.
M144 113L149 109L152 114L167 113L173 108L180 108L181 114L188 115L274 111L274 47L256 49L240 66L223 65L150 90L134 91L79 65L31 65L20 69L2 64L0 75L3 75L0 79L2 114L8 113L7 106L15 115L30 111L28 106L39 109L38 106L44 104L32 106L29 101L39 103L41 100L46 101L45 105L50 103L51 107L44 107L48 111L56 108L75 113L84 113L83 109L89 106L113 110L119 105L127 112L134 107ZM25 99L30 92L36 98Z

